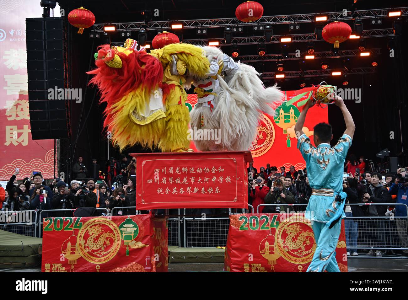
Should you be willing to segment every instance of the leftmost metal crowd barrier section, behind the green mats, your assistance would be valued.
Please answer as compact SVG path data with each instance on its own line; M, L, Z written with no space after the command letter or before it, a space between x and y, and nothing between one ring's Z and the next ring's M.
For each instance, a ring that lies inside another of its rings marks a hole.
M23 236L36 237L37 211L0 211L0 229Z

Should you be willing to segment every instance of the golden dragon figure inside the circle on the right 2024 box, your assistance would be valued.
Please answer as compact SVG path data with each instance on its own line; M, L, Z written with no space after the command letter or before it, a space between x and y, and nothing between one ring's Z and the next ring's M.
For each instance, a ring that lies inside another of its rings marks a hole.
M290 225L284 230L286 233L288 233L288 236L282 243L282 246L286 251L291 251L293 254L296 254L298 256L306 256L311 251L313 251L313 247L310 247L309 250L305 250L305 246L315 242L315 236L313 235L313 232L303 231L302 227L300 227L300 225L298 224ZM301 233L299 234L299 236L297 236L297 239L295 240L295 236L299 232ZM310 238L312 238L311 241ZM293 252L294 250L297 251Z

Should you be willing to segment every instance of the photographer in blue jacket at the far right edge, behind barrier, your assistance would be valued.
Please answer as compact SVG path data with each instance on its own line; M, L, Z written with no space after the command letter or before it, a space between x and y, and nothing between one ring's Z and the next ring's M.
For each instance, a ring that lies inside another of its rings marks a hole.
M397 196L395 199L396 203L408 205L408 174L406 172L401 172L401 168L398 168L396 179L398 179L398 183L393 183L388 193ZM387 209L386 216L406 217L407 211L403 205L397 205L392 210ZM408 224L404 219L395 219L395 221L401 246L408 248ZM408 256L408 250L402 251L402 255Z

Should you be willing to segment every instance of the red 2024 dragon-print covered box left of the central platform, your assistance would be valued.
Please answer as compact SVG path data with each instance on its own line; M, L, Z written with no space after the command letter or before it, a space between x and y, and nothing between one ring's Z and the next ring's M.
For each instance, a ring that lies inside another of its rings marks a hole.
M44 218L42 272L166 272L167 218Z

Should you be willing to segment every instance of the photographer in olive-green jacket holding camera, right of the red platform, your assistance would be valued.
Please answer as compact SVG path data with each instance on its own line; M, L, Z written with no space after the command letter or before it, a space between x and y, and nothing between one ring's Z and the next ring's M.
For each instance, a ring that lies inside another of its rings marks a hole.
M265 204L289 204L295 203L295 197L288 189L284 189L282 180L277 179L273 182L273 188L265 196ZM286 213L289 207L287 205L276 205L264 207L264 213Z

